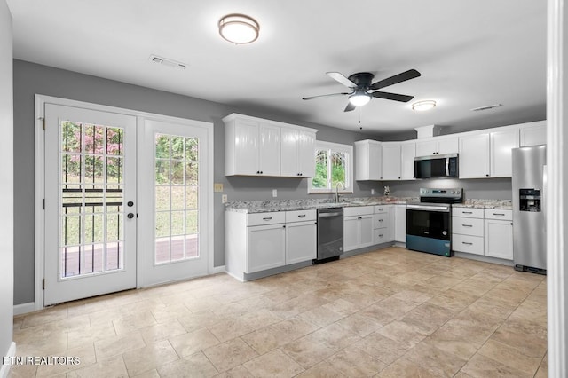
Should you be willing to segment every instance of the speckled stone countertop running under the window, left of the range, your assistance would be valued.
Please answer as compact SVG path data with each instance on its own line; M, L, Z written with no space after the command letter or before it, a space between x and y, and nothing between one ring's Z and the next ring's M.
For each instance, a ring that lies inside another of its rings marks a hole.
M307 209L349 208L358 206L396 205L418 201L412 197L363 197L343 198L339 203L332 200L283 200L283 201L232 201L225 204L225 211L240 213L267 213L272 211L293 211Z

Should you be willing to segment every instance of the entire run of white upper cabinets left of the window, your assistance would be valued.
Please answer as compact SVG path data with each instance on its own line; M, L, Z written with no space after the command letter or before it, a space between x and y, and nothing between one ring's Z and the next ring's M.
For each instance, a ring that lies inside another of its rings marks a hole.
M223 122L226 176L313 176L317 130L242 114Z

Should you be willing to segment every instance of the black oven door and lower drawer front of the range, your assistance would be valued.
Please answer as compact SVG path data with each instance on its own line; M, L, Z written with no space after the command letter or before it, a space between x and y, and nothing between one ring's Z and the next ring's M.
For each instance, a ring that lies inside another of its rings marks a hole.
M454 256L451 245L451 212L448 208L408 205L406 248L440 256Z

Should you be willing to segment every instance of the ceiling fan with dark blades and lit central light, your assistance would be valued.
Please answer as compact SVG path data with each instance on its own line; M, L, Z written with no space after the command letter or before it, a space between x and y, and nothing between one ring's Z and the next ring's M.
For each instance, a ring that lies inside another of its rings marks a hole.
M312 97L304 97L302 99L312 99L320 97L332 97L332 96L349 96L349 104L345 107L344 112L351 112L356 106L363 106L371 100L371 98L385 98L394 101L408 102L414 98L414 96L401 95L398 93L390 93L380 90L381 88L388 87L389 85L406 82L406 80L414 79L420 76L420 72L415 69L409 69L401 74L387 77L386 79L379 80L378 82L372 83L375 75L368 72L359 72L358 74L350 75L345 77L339 72L327 72L327 75L337 82L342 83L346 87L351 89L351 92L343 93L332 93L327 95L319 95Z

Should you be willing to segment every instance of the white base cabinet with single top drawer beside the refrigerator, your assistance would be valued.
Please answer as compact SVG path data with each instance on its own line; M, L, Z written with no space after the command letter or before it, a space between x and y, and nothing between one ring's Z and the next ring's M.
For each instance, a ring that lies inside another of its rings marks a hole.
M513 211L485 209L485 256L513 259Z

